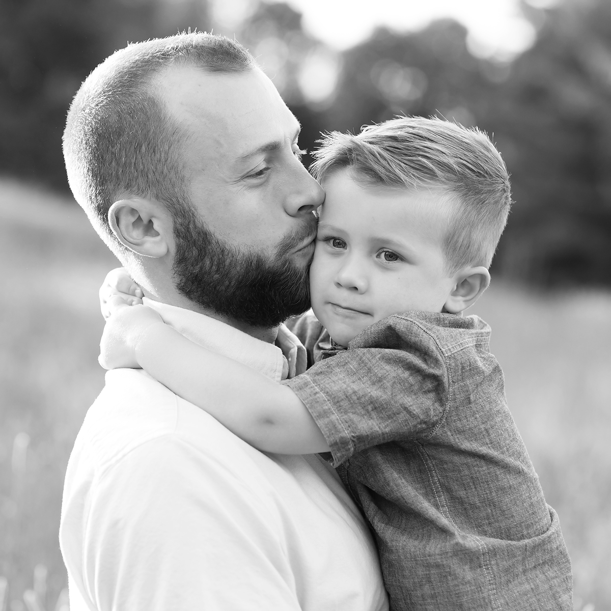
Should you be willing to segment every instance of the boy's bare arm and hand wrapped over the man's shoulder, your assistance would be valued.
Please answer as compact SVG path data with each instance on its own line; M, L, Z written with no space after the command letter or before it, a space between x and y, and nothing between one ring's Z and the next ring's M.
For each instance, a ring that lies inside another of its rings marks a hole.
M264 452L328 452L310 412L290 388L191 342L150 308L114 307L102 338L104 367L142 367Z

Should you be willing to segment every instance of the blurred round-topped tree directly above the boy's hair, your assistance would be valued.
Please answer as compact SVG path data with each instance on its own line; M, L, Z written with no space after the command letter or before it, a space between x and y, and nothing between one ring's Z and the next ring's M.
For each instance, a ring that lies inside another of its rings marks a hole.
M346 51L326 127L354 131L397 114L473 125L486 114L494 88L486 75L494 66L472 56L466 38L466 28L453 20L411 34L376 30Z

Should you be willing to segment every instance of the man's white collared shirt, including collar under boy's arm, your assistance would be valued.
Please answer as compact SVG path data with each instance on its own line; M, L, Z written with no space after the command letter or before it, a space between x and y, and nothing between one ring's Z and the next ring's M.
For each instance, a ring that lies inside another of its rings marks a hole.
M303 367L288 329L285 359L207 316L148 305L277 381ZM142 370L109 371L87 412L60 547L71 611L388 609L368 527L331 467L258 452Z

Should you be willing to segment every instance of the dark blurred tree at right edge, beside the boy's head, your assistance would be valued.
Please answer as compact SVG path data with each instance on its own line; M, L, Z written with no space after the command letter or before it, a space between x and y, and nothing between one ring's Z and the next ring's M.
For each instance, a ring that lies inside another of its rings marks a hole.
M567 1L546 17L486 117L516 202L497 266L536 284L611 285L611 4Z

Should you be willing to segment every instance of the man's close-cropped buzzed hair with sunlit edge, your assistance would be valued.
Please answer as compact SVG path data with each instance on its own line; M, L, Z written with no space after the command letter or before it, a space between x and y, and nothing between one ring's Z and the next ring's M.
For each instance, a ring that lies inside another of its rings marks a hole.
M133 43L92 71L68 112L64 159L70 188L119 258L128 251L112 233L108 210L120 194L152 197L173 218L192 214L180 147L187 134L153 85L170 65L217 73L256 66L240 43L205 32Z

